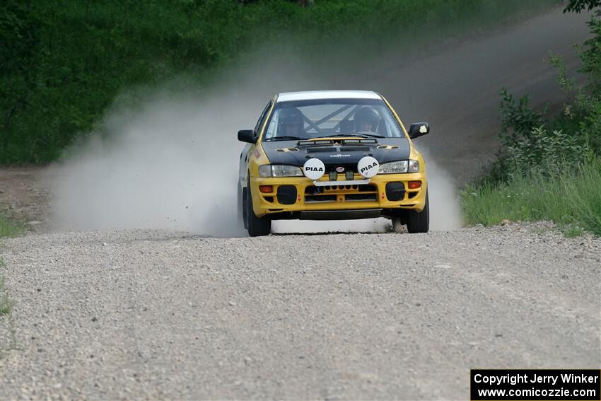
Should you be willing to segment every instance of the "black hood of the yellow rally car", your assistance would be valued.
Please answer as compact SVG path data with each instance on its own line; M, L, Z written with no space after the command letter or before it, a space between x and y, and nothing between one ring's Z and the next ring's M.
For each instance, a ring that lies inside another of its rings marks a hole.
M269 163L301 167L309 158L318 158L326 172L337 167L356 171L364 156L378 163L407 160L411 151L407 138L339 139L324 141L264 141L261 143Z

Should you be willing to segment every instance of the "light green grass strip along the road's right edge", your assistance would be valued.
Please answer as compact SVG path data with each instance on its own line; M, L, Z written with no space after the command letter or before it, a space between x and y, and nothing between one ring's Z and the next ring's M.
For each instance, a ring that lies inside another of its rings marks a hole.
M554 221L567 237L601 236L601 158L559 174L530 173L508 182L468 185L462 192L467 223Z

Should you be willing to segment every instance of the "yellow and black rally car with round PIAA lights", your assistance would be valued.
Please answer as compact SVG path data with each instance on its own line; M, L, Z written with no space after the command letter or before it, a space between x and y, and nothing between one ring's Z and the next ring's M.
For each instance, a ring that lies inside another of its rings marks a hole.
M250 236L276 219L392 219L395 232L429 227L426 163L382 95L370 91L279 93L255 129L238 132L238 217Z

